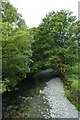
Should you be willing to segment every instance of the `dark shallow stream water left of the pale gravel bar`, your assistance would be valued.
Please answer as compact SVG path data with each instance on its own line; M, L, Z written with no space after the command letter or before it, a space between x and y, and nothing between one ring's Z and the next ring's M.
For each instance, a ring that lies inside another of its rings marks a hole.
M3 95L3 118L50 118L45 83L24 83L17 92Z

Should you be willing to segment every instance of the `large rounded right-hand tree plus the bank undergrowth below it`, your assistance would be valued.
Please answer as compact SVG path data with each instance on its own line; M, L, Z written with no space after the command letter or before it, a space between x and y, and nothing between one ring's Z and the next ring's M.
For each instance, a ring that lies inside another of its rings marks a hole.
M34 72L52 68L65 80L65 93L80 110L80 24L69 11L51 12L38 28L32 28Z

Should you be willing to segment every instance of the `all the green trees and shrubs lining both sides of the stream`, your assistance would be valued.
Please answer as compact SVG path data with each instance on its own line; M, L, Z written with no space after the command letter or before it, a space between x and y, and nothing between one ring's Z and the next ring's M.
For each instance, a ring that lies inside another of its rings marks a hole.
M80 23L70 11L50 12L37 28L29 29L9 2L2 3L0 30L2 43L2 79L4 91L27 79L27 73L54 69L67 76L67 96L79 91Z

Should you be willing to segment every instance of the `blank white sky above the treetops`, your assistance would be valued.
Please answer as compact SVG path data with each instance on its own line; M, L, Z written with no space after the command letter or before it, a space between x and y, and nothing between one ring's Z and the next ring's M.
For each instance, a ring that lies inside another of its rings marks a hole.
M22 14L28 27L37 27L48 12L70 10L78 17L80 0L9 0Z

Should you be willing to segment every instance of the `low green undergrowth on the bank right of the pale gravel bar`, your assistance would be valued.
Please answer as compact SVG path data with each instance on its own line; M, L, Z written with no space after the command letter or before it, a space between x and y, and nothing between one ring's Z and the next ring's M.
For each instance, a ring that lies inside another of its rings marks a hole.
M66 94L66 97L69 99L69 101L75 105L77 110L80 112L80 83L75 80L68 79L64 83L64 91Z

